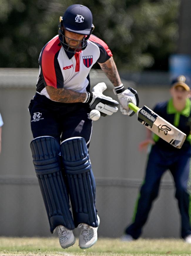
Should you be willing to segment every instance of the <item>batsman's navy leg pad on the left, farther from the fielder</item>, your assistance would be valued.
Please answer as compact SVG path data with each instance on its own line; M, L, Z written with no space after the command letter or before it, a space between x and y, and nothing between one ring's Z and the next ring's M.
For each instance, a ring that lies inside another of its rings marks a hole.
M69 196L62 175L60 145L51 136L38 137L31 142L31 151L51 233L58 225L74 229Z

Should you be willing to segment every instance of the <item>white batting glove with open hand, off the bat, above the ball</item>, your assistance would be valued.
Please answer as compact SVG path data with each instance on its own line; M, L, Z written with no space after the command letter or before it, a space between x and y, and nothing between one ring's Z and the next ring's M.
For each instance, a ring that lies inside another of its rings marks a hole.
M111 97L103 95L103 91L107 89L104 82L96 84L91 92L86 92L87 97L83 103L89 103L90 109L97 109L102 116L112 115L118 111L119 103Z

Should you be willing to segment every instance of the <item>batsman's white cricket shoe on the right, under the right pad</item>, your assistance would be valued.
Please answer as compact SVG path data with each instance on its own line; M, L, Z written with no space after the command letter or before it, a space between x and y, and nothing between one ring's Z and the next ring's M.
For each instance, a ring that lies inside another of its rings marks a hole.
M100 224L100 218L97 215L98 219L98 226ZM94 245L98 240L97 235L97 228L93 228L92 226L89 226L88 224L81 223L78 225L79 228L81 228L80 236L79 236L79 247L81 249L87 249L90 248L92 245Z

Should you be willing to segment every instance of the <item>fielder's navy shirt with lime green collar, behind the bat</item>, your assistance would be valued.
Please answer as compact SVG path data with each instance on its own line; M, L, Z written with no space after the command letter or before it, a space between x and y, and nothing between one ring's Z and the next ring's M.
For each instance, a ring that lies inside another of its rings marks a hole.
M153 135L155 143L164 151L182 151L188 150L190 146L190 131L191 131L191 101L187 99L185 108L178 112L173 106L172 99L166 102L159 102L153 111L167 120L169 123L177 127L180 131L186 134L186 140L181 149L177 149L158 137Z

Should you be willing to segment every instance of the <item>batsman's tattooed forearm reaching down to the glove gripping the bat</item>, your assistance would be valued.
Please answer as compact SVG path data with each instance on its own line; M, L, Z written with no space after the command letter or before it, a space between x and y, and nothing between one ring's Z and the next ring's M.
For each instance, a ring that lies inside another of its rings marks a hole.
M104 63L99 63L99 65L115 87L121 84L121 79L119 77L118 70L113 60L113 57L111 57Z

